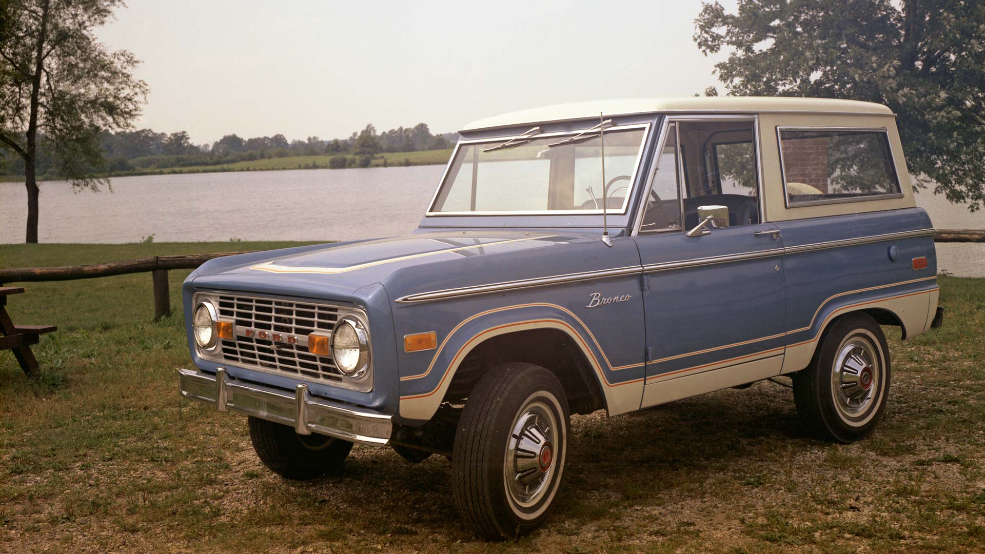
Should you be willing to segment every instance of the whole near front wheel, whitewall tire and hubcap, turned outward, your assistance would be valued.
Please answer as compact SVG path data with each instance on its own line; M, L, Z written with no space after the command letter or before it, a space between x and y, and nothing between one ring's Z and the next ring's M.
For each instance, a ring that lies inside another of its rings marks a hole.
M476 383L451 456L462 518L486 538L513 539L551 513L570 435L564 389L550 371L504 364Z

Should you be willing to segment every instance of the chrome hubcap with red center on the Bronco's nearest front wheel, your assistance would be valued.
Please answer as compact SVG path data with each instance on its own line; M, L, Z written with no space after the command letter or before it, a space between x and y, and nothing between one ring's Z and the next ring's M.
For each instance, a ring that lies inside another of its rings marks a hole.
M553 412L542 402L531 402L513 423L504 464L506 490L518 505L537 504L550 488L556 470Z

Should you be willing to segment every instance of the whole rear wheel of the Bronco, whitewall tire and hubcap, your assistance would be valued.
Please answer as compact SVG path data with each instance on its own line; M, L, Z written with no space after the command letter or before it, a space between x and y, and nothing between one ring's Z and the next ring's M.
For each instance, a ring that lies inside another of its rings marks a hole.
M824 331L811 365L793 375L797 412L821 438L864 439L886 412L889 375L883 329L866 313L843 315Z

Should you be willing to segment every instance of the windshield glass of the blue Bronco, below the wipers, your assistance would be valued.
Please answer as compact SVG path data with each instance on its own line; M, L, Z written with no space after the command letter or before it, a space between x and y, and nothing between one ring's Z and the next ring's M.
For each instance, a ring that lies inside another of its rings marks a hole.
M462 143L429 213L602 213L603 145L598 130L564 142L579 132L533 135L517 139L516 146L504 145L508 137ZM605 131L610 213L625 211L645 134L645 126Z

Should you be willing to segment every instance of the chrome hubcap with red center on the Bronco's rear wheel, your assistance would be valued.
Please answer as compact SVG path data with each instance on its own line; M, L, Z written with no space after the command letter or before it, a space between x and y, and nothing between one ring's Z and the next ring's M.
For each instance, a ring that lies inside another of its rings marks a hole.
M857 416L872 404L882 372L872 343L861 337L846 340L834 360L831 389L842 414Z

